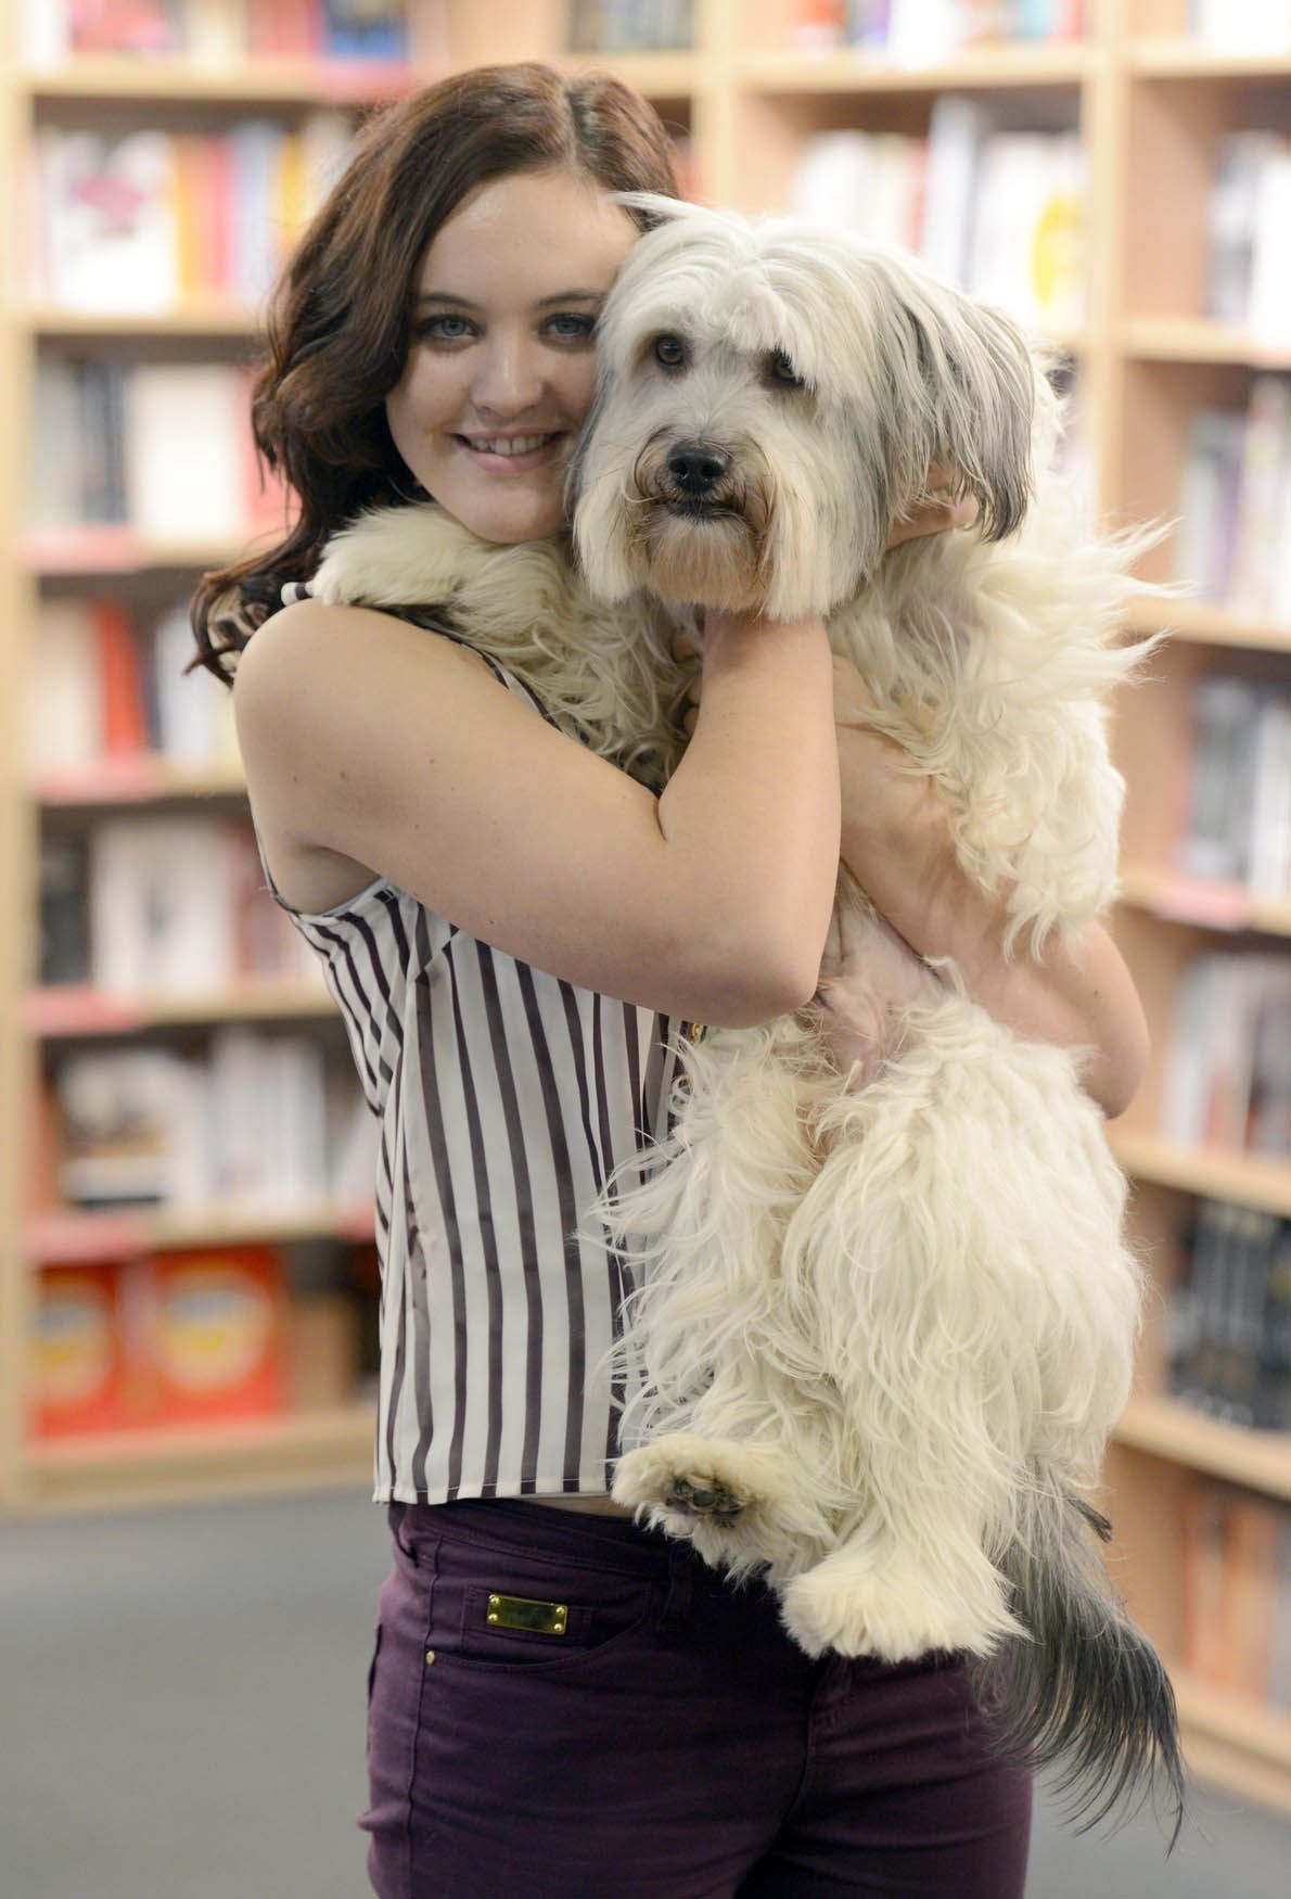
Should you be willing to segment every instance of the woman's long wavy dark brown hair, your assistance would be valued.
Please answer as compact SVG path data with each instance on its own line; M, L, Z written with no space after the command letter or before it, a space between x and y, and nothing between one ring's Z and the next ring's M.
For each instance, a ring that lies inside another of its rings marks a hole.
M606 74L475 66L366 120L283 270L256 353L256 452L298 513L275 547L203 573L186 672L207 667L232 686L283 585L313 575L340 526L365 507L425 499L385 422L425 247L477 184L554 167L609 192L680 196L663 120Z

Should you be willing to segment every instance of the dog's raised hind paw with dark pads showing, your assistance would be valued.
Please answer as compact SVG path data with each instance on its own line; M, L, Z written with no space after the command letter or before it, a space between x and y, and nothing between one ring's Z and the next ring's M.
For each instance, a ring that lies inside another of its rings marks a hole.
M771 1445L733 1443L668 1432L628 1451L613 1476L611 1496L628 1510L653 1506L672 1519L756 1515L790 1495L788 1466Z

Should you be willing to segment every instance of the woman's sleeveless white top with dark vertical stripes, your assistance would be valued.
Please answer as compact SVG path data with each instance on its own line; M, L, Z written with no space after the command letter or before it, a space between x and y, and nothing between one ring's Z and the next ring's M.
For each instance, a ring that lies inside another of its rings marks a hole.
M294 910L260 862L323 959L382 1122L374 1502L604 1495L623 1392L594 1367L627 1288L613 1248L573 1229L668 1132L674 1029L691 1025L520 963L385 877Z

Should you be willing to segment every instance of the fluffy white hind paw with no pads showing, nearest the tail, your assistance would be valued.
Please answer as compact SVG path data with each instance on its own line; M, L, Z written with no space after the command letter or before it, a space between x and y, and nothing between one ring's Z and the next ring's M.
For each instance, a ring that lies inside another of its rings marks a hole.
M1004 1633L1018 1629L999 1588L987 1591L987 1601L940 1593L913 1570L879 1572L849 1551L794 1576L780 1599L780 1620L809 1656L832 1650L879 1662L913 1662L934 1650L991 1654Z

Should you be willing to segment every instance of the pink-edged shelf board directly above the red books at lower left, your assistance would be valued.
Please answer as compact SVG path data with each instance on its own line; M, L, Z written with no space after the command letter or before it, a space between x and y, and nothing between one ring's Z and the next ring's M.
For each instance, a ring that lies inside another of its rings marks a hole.
M234 1246L243 1240L370 1240L370 1204L311 1208L182 1208L178 1212L38 1213L27 1221L25 1250L42 1267L68 1261L122 1259L165 1248Z

